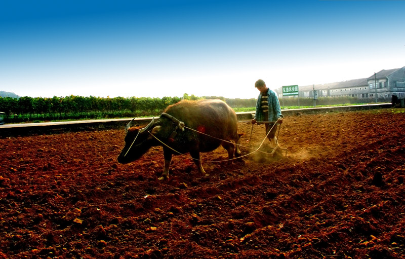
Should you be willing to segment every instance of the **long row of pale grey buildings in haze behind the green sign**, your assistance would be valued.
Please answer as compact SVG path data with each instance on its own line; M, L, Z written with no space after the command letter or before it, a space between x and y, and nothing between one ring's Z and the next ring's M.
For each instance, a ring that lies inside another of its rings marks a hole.
M320 85L299 86L298 90L300 98L313 98L313 90L316 90L318 97L349 96L374 100L377 94L379 99L390 100L392 95L403 99L405 98L405 66L402 68L381 70L369 78ZM279 98L283 97L281 87L275 91ZM286 98L286 96L284 96L284 98Z

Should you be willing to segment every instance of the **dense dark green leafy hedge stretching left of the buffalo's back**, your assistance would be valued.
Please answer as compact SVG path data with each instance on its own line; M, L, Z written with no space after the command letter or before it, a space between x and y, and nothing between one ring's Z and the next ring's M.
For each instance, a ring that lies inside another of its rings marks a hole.
M0 98L0 111L6 113L6 122L142 117L158 114L178 101L179 97L4 97Z

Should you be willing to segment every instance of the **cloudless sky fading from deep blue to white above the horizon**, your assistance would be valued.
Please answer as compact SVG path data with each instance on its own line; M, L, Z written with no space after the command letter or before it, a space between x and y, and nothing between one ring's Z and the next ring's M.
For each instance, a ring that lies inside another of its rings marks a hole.
M405 1L0 2L0 90L256 98L405 66Z

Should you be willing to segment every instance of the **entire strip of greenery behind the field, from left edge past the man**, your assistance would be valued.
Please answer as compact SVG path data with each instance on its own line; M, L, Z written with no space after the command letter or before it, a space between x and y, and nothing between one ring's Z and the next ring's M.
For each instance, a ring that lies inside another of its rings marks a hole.
M0 112L6 114L6 123L19 123L27 121L54 121L79 119L108 119L158 116L163 110L182 99L221 99L234 109L244 111L254 110L256 98L239 99L224 98L221 96L203 96L184 94L182 97L83 97L70 95L66 97L0 97ZM280 98L281 108L311 106L312 98ZM316 105L334 105L345 103L358 103L356 97L321 97Z

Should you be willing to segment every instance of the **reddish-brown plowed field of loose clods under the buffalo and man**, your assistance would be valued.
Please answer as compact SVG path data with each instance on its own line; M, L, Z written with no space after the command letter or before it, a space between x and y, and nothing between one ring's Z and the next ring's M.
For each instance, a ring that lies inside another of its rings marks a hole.
M166 181L161 147L117 164L124 130L0 139L0 258L404 258L403 112L286 117L287 156L175 156ZM248 154L264 126L238 126Z

